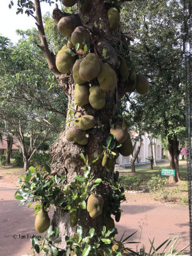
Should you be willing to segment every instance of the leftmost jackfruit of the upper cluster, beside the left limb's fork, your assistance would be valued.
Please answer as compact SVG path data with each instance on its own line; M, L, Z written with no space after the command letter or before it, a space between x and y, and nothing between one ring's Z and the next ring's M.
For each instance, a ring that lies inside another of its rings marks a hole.
M75 57L68 54L68 51L70 51L70 48L64 45L56 56L56 67L63 74L70 71L76 60Z

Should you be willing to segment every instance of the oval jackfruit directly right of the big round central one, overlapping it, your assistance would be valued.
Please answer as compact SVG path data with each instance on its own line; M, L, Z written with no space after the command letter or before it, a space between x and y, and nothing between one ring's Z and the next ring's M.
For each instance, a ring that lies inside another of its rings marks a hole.
M97 76L97 79L100 84L100 88L104 92L109 92L110 90L113 90L116 86L116 73L109 66L108 63L104 63L101 65L101 70L99 73L99 76Z

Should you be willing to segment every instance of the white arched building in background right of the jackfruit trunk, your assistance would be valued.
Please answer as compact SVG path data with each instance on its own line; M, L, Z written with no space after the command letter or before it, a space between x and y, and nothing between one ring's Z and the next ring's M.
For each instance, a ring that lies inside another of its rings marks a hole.
M134 138L135 136L138 136L136 132L132 131L132 136L131 138ZM138 155L138 159L136 159L135 163L148 163L149 160L147 157L151 156L151 145L150 145L150 140L148 139L147 134L142 135L142 142L141 142L141 148L140 148L140 154ZM132 141L132 145L134 144L134 141ZM163 154L162 154L162 145L161 141L158 139L153 139L153 153L154 153L154 158L156 158L156 161L161 161L163 159ZM138 142L136 143L136 147L134 148L134 154L136 153L136 150L138 148ZM118 159L116 159L116 164L124 165L124 164L131 164L130 163L131 156L122 156L120 155Z

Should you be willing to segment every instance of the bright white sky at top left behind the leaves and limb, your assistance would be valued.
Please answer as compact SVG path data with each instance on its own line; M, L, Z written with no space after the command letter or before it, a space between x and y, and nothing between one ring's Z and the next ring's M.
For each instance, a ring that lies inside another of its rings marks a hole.
M9 3L10 0L0 0L0 35L10 38L13 43L16 43L19 40L19 36L15 32L16 29L26 30L36 27L35 19L32 16L28 17L26 13L17 15L17 1L13 0L12 9L8 8ZM44 15L46 12L52 13L55 4L50 7L49 4L41 3L41 6L42 15Z

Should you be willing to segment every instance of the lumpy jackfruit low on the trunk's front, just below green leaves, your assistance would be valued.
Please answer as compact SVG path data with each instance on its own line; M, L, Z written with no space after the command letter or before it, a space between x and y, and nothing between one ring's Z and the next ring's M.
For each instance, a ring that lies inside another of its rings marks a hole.
M102 214L104 200L101 195L90 195L87 200L87 211L92 219Z

